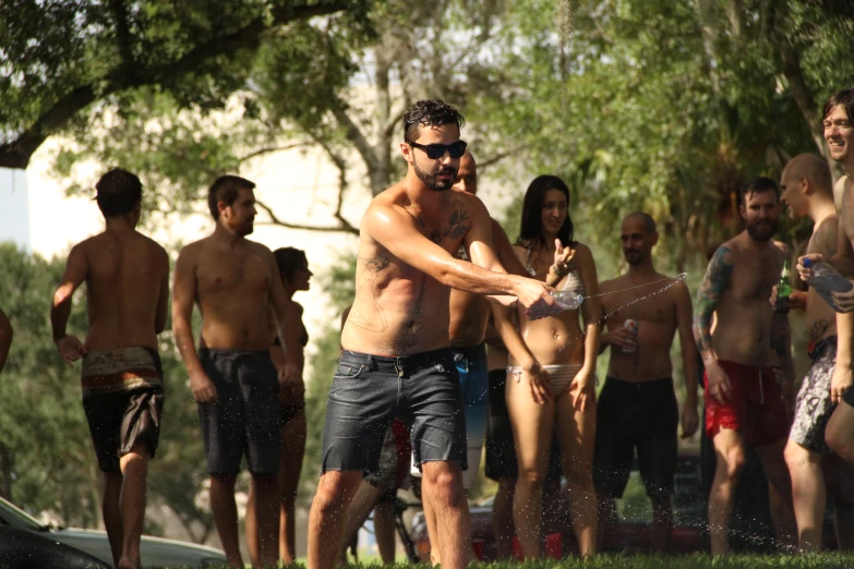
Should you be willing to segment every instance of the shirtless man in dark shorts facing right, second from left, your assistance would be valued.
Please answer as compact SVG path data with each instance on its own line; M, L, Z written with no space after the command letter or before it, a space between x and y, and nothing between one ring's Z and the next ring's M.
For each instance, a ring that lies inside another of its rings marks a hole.
M211 509L231 567L243 567L238 544L234 482L246 453L257 495L258 564L278 561L280 383L302 374L299 310L279 278L273 253L245 239L253 231L255 184L218 178L207 203L214 232L181 250L175 266L175 339L190 375L211 473ZM193 305L202 313L200 349L193 341ZM286 361L269 356L267 322L273 307ZM296 362L296 363L294 363Z

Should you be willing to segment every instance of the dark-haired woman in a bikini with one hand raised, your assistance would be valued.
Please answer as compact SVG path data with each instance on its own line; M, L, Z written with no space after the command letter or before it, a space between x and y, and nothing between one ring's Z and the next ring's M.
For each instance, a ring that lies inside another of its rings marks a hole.
M568 201L569 189L560 178L534 179L525 194L514 249L531 277L582 294L580 310L534 322L522 311L495 310L510 353L505 395L519 462L514 520L526 557L541 555L542 486L553 435L561 447L579 552L585 557L596 553L594 374L602 308L598 299L587 300L597 294L596 264L590 249L573 240Z

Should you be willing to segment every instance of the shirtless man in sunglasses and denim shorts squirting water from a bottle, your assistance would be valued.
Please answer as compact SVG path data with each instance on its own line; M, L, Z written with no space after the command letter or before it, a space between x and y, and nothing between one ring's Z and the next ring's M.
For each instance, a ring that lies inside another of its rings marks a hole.
M407 175L362 217L356 300L329 390L323 474L309 521L310 569L334 567L336 548L328 544L339 543L342 512L363 472L376 470L397 415L410 427L422 493L435 511L442 566L466 566L466 425L448 339L450 289L500 295L505 304L516 296L533 317L558 310L544 283L486 270L503 270L491 249L489 213L477 197L448 191L466 149L461 122L438 100L408 109L400 144ZM460 246L472 263L454 258Z

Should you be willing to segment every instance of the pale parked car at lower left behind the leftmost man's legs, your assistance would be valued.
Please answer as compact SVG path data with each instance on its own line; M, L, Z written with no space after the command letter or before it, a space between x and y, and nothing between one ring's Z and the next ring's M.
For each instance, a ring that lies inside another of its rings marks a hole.
M0 498L0 526L23 530L59 542L112 565L106 532L46 525L3 498ZM227 562L225 554L219 549L148 535L143 535L140 552L146 566L221 567Z

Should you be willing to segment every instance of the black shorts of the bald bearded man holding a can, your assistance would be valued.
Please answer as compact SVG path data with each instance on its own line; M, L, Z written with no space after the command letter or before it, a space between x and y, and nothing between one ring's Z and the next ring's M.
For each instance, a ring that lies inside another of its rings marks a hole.
M634 383L609 376L599 396L597 414L597 493L606 499L623 496L637 448L647 495L672 495L679 424L673 379Z

